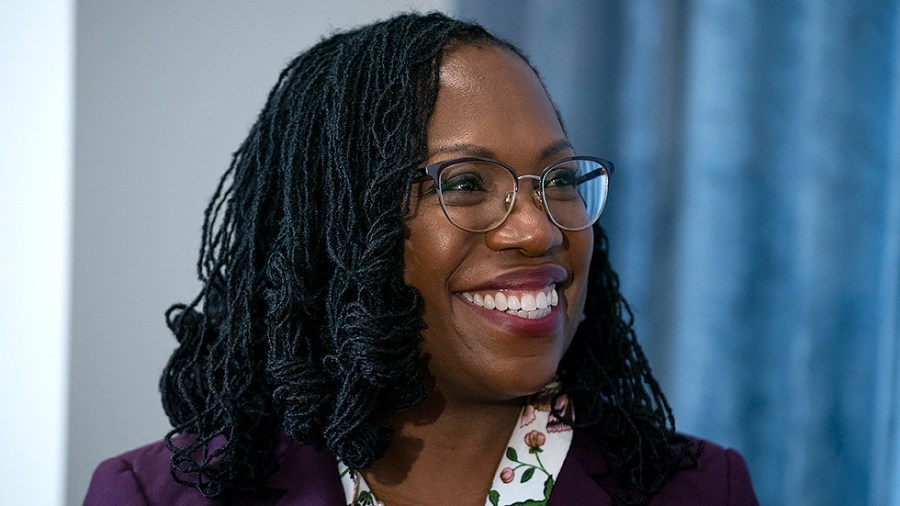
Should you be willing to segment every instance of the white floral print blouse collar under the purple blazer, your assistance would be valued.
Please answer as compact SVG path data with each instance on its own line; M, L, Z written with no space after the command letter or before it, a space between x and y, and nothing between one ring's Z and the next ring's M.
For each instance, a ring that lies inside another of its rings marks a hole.
M546 505L555 477L572 444L572 428L553 415L550 403L556 397L557 413L572 419L572 405L565 395L557 397L554 381L528 398L507 443L506 454L494 472L485 506ZM338 461L341 484L348 506L390 506L379 501L362 474Z

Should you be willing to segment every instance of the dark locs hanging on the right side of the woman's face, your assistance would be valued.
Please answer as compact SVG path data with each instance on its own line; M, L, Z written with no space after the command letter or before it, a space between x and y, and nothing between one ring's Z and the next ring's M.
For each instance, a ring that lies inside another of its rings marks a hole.
M634 315L619 292L599 225L584 314L558 370L562 393L577 411L569 422L600 437L616 475L617 499L644 504L675 471L696 467L703 444L675 433L672 409L637 342Z

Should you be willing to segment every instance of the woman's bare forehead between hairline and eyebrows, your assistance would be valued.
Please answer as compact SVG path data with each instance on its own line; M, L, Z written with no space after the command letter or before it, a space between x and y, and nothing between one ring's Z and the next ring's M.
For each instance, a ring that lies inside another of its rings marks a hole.
M454 145L484 148L516 163L565 140L556 111L522 58L498 46L465 45L441 61L440 88L428 125L432 154Z

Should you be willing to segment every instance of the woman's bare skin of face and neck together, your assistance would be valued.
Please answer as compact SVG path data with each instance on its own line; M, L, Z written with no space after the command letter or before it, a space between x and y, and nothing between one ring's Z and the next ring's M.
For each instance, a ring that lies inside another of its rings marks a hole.
M440 82L427 163L480 156L540 174L574 154L537 76L512 52L455 48L443 57ZM452 225L430 181L413 188L405 280L425 301L422 349L433 388L391 419L397 436L364 473L387 504L484 504L526 396L554 377L575 334L593 233L560 230L530 197L532 183L520 185L512 214L485 233ZM548 276L561 278L559 305L537 324L461 296L544 286Z

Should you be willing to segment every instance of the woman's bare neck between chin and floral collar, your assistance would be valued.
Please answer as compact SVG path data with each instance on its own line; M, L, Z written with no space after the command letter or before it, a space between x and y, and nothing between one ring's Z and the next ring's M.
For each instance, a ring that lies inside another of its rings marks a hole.
M448 498L483 505L523 401L450 402L435 391L391 418L393 442L363 476L389 506L447 504Z

